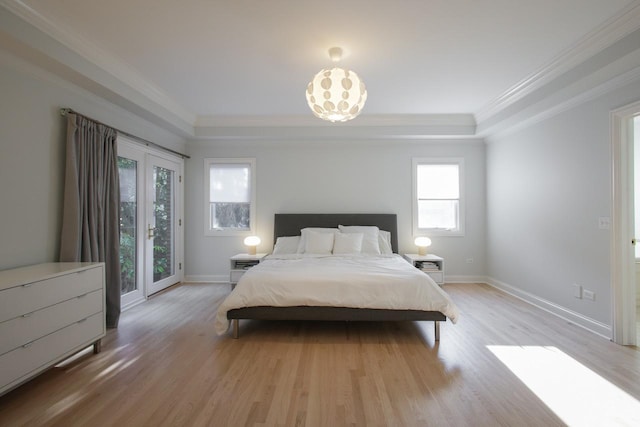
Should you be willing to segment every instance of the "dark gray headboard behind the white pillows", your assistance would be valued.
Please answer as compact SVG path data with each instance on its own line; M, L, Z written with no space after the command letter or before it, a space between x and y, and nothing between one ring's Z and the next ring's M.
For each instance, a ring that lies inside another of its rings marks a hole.
M298 236L305 227L338 227L338 225L375 225L391 233L391 249L398 252L398 220L396 214L275 214L273 241L281 236Z

